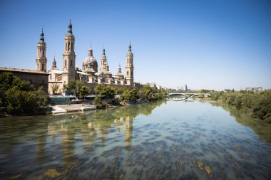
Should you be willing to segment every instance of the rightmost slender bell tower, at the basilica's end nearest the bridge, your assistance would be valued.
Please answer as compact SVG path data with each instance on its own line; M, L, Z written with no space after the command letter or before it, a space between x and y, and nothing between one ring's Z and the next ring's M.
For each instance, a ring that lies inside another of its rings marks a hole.
M126 84L133 86L133 53L131 43L126 54Z

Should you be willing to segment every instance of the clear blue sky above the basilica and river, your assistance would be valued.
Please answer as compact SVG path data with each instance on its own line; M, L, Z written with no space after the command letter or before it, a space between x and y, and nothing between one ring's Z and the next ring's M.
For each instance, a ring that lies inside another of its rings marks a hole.
M41 26L62 69L71 17L76 65L103 45L113 74L128 44L135 80L168 88L271 88L271 1L0 1L0 66L35 68Z

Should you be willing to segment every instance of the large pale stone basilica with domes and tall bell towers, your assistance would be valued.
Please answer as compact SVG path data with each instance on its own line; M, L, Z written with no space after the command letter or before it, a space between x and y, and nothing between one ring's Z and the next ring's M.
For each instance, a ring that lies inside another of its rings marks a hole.
M92 90L98 84L111 85L115 87L132 88L133 82L133 53L131 43L128 46L126 54L125 75L121 72L121 65L118 72L113 75L109 70L106 50L103 48L101 55L100 68L98 62L93 56L93 49L88 49L88 56L83 60L82 69L76 67L76 53L74 52L75 37L72 31L71 19L68 24L68 31L65 35L65 50L63 53L63 69L56 67L56 59L53 58L51 68L47 71L46 43L44 41L44 31L41 30L41 38L37 45L36 71L48 73L48 94L62 93L64 85L71 80L82 80Z

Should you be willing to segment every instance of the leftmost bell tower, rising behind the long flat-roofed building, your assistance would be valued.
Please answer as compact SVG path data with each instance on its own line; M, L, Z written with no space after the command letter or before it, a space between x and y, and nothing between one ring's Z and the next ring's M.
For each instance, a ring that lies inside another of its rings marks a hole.
M44 28L41 28L41 38L37 45L36 56L36 70L46 72L47 58L46 58L46 43L44 42Z

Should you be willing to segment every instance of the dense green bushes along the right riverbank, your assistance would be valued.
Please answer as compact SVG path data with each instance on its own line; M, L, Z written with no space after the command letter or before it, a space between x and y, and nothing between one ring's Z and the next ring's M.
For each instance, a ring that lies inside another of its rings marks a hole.
M211 99L254 118L271 123L271 90L261 92L245 90L215 91L211 93Z

